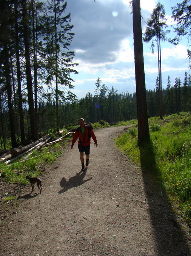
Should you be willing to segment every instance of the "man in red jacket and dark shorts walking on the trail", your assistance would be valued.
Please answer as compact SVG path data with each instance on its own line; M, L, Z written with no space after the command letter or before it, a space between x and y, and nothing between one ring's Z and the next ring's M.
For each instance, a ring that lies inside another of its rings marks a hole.
M79 122L79 127L76 129L75 133L74 133L74 137L72 139L72 145L71 145L71 149L74 146L75 141L77 140L77 138L79 137L79 141L78 141L78 148L80 151L80 161L82 163L82 170L85 170L85 165L84 165L84 152L86 155L86 166L88 166L89 164L89 154L90 154L90 138L92 137L92 139L94 140L94 144L97 147L97 139L95 137L94 131L91 129L91 127L89 127L88 125L85 124L85 121L83 118L80 118L78 120Z

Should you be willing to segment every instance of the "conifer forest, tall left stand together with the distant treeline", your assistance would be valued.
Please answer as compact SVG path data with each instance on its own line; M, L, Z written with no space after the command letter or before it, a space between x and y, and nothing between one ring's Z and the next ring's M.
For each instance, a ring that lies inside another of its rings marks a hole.
M118 93L98 77L94 95L77 99L71 74L77 74L70 44L71 14L64 0L0 0L0 142L6 149L37 140L50 129L105 120L137 118L136 91ZM176 13L174 13L176 15ZM175 43L175 42L173 42ZM189 52L188 52L189 53ZM160 76L146 90L148 117L160 115ZM48 91L44 89L48 88ZM191 74L166 77L162 115L191 110Z

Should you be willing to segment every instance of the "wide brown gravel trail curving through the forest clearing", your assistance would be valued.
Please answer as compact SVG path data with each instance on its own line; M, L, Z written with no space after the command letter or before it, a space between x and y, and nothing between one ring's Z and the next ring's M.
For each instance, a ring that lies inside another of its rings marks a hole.
M17 214L0 226L0 255L191 255L190 231L166 195L114 146L126 128L95 131L83 173L75 143L41 176L41 195L36 185L20 192Z

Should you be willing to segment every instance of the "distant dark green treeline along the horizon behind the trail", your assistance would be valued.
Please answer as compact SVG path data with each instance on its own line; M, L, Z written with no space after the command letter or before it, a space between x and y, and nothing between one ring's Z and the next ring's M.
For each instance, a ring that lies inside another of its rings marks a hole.
M100 78L97 79L95 95L87 93L85 97L79 99L75 104L67 102L59 105L60 129L77 125L79 118L84 118L86 123L95 123L101 120L110 125L120 121L137 119L136 92L117 93L112 86L111 90L103 84ZM158 78L156 88L146 90L148 117L159 116L159 89ZM180 77L171 83L168 76L166 89L162 90L163 115L170 115L180 112L191 111L191 75L185 72L183 83ZM52 124L54 127L54 99L49 98L43 102L39 122L42 124L40 129L48 130Z

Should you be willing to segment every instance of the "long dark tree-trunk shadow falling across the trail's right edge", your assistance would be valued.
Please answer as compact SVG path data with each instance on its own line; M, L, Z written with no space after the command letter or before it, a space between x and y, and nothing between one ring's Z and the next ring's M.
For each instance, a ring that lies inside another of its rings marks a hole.
M188 241L172 210L165 188L160 182L151 143L140 147L140 159L157 256L190 256Z

